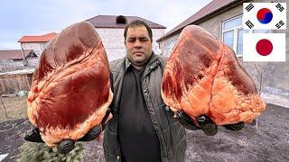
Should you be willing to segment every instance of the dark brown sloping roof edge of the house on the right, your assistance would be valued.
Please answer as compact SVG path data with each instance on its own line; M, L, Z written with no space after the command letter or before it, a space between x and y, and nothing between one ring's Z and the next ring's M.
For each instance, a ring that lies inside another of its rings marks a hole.
M198 24L210 18L210 16L213 16L214 14L217 14L219 12L225 12L231 7L234 7L238 4L242 4L247 1L249 0L213 0L210 2L210 4L205 5L196 14L191 15L191 17L189 17L187 20L180 23L171 31L168 31L167 33L165 33L163 37L161 37L160 39L156 41L164 40L174 35L175 33L181 32L182 29L189 24Z

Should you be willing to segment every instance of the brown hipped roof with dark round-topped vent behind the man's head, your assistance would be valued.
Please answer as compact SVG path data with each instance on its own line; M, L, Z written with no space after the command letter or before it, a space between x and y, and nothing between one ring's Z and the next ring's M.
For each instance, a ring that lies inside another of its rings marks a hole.
M131 23L134 20L142 20L147 23L152 29L165 29L163 25L158 23L150 22L141 17L137 16L124 16L124 15L98 15L86 20L89 23L92 23L96 28L125 28L125 23L117 23L117 18L126 20L127 23ZM122 21L121 21L122 22Z

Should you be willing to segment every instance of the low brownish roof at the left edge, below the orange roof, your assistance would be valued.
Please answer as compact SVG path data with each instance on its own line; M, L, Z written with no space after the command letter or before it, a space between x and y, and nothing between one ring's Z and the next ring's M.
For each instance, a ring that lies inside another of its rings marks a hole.
M24 49L24 56L27 57L33 49ZM23 59L22 49L0 50L0 59Z

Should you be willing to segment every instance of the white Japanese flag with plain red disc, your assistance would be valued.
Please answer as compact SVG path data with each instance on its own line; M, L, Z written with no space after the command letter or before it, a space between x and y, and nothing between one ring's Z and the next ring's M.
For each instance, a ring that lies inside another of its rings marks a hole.
M284 62L285 33L244 33L243 61Z

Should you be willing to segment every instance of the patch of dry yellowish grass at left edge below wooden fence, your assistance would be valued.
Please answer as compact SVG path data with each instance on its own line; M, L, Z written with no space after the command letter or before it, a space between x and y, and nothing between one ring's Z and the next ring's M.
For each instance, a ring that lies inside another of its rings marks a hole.
M0 97L0 100L0 121L27 117L26 97Z

